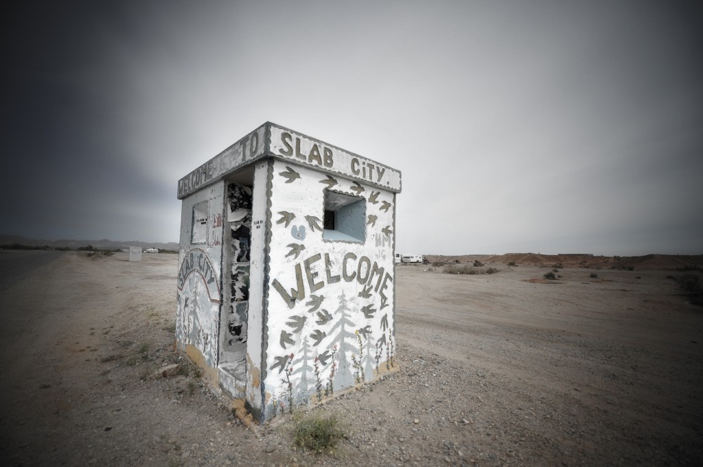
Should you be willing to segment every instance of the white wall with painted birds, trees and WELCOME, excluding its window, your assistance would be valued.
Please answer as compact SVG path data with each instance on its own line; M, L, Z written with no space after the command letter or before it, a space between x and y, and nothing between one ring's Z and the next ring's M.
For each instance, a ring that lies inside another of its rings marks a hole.
M324 397L330 381L338 391L373 379L395 351L394 193L335 176L332 190L366 199L366 240L325 241L328 175L272 160L266 418Z

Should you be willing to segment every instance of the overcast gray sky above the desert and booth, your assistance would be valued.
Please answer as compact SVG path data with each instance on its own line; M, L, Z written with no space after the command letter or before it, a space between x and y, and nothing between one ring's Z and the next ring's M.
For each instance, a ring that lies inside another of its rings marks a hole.
M14 3L0 233L177 242L273 121L402 171L397 251L703 253L697 2Z

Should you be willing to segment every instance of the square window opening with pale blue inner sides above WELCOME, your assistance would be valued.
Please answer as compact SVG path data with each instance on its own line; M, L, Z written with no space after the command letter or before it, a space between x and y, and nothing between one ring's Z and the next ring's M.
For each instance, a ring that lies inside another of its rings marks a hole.
M356 243L366 240L366 199L325 190L322 237Z

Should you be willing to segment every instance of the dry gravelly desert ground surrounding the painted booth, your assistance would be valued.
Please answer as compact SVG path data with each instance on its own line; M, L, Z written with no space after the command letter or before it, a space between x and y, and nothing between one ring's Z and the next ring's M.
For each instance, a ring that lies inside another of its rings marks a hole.
M174 351L177 256L126 256L0 251L1 465L703 464L703 308L676 272L400 265L399 371L312 409L346 436L311 454Z

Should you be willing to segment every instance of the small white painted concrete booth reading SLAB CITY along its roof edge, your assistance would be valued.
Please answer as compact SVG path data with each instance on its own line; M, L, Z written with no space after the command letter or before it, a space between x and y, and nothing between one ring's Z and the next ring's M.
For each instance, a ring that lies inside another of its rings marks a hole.
M181 178L176 346L259 422L393 371L400 191L270 122Z

